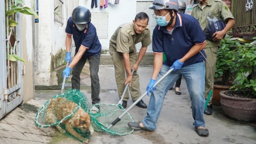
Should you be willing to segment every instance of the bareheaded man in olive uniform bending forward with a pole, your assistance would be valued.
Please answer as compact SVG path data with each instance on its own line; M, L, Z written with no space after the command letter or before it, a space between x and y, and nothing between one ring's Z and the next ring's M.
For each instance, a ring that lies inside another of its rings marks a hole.
M147 46L151 43L150 30L147 27L148 20L148 15L140 12L133 22L120 25L110 39L109 53L115 66L119 99L121 99L127 83L129 83L129 91L133 102L141 96L137 69L146 53ZM135 44L139 42L141 42L142 47L137 59ZM133 75L132 69L134 69ZM125 71L127 78L125 78ZM129 93L126 91L122 101L123 108L126 108L128 99ZM137 103L137 106L147 108L147 105L142 100Z

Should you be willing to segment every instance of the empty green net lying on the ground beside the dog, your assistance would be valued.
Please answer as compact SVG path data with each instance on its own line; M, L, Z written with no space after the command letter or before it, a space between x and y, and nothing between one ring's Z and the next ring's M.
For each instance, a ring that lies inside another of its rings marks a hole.
M125 111L121 105L96 103L93 106L96 106L100 109L99 113L97 114L89 112L92 118L92 127L95 131L106 131L113 135L127 135L133 132L133 129L127 125L129 122L134 122L132 116L129 113L126 113L122 117L121 121L108 129L108 125L111 124L119 115ZM91 110L92 109L93 108L91 108Z

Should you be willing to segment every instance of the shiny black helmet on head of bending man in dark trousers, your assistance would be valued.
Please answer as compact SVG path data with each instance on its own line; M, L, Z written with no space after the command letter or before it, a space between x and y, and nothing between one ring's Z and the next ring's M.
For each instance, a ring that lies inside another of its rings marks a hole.
M75 24L84 24L91 21L91 12L84 6L77 6L72 13L72 21Z

